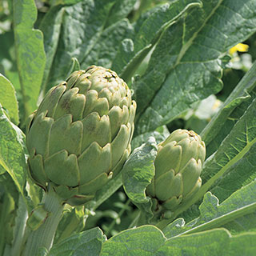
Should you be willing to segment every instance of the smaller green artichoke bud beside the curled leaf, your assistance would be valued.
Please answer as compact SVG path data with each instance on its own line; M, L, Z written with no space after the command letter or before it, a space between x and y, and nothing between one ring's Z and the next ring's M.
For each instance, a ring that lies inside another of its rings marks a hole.
M192 130L175 130L158 145L154 160L155 174L146 194L156 198L167 210L193 196L200 188L206 146Z

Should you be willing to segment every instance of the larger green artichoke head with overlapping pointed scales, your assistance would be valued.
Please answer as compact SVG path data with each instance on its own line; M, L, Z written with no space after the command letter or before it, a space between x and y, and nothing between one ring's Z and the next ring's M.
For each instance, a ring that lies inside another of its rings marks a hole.
M130 154L136 103L109 69L78 70L48 91L29 118L29 173L70 205L94 198Z

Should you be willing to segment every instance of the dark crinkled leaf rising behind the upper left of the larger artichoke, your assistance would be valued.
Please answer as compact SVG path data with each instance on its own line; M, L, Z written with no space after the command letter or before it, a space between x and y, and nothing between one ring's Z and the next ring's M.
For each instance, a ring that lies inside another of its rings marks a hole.
M65 7L58 48L50 68L46 90L66 78L72 58L77 58L82 64L87 55L91 54L91 50L99 42L113 4L114 0L85 0Z

